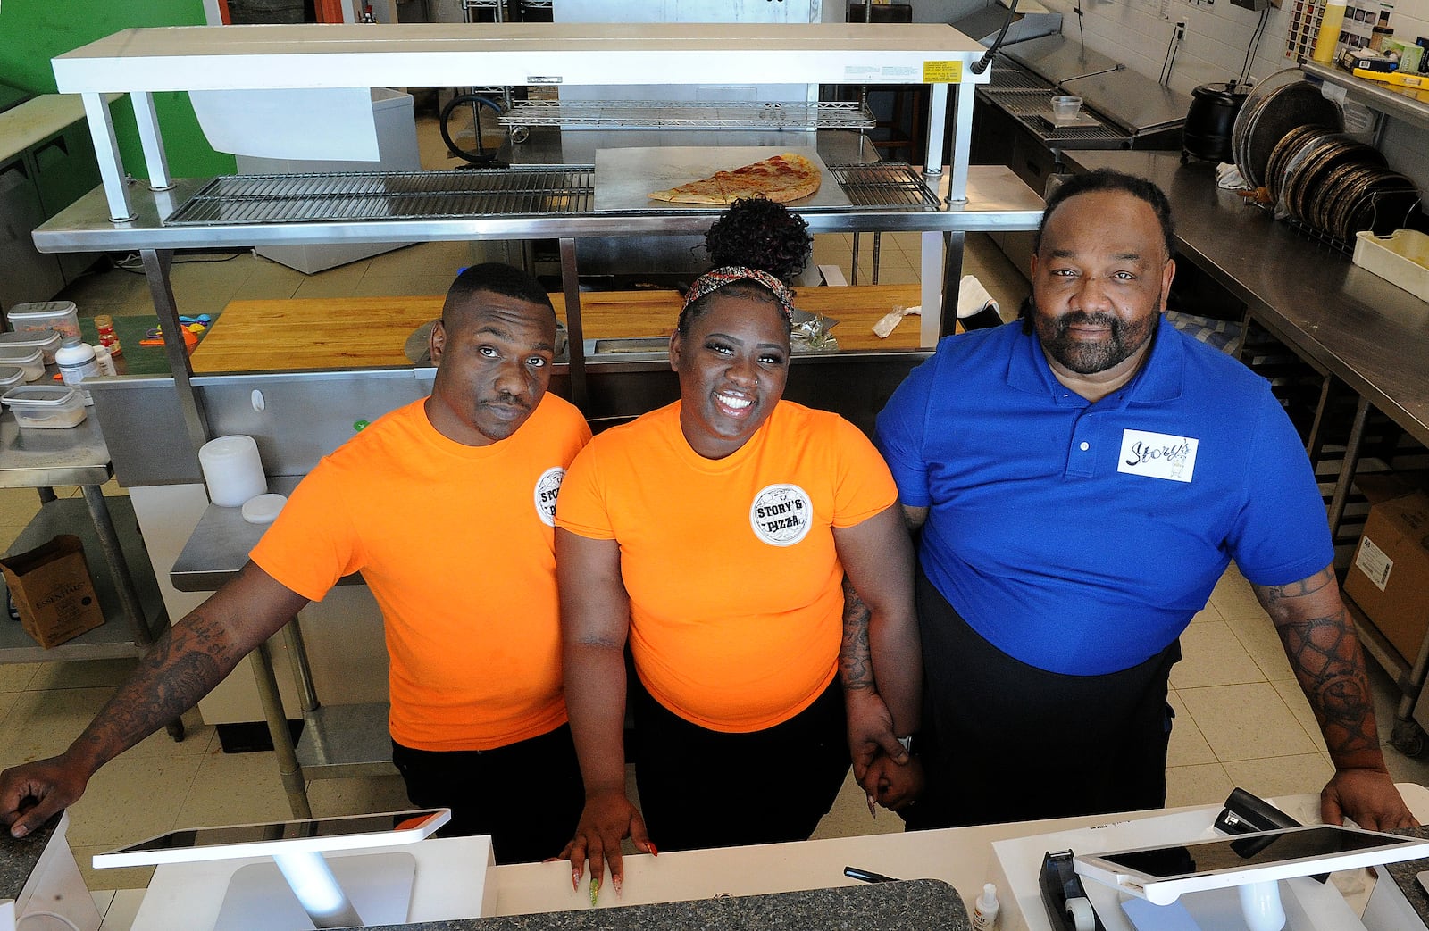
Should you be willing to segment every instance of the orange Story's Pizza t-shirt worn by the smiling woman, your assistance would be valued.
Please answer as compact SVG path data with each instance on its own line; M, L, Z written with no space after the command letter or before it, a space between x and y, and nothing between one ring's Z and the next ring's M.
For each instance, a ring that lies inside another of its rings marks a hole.
M787 721L833 681L843 635L835 527L897 500L873 444L837 414L780 401L733 456L707 460L679 403L596 437L556 525L616 540L630 648L650 694L716 731Z

